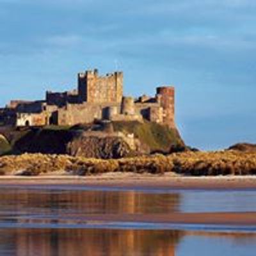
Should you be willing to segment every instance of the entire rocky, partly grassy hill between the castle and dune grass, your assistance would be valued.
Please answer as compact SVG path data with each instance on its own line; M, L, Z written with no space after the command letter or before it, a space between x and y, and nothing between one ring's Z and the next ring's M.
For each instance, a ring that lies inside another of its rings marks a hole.
M35 127L13 129L4 134L11 141L13 154L70 154L115 159L154 152L168 154L171 143L184 147L176 129L152 122Z

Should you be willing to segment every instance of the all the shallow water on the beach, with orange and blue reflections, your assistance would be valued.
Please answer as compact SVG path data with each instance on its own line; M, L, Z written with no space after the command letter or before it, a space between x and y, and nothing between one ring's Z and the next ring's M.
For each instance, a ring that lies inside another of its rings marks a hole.
M256 227L90 221L88 214L256 212L256 191L0 188L0 255L255 255ZM256 214L255 214L256 218Z

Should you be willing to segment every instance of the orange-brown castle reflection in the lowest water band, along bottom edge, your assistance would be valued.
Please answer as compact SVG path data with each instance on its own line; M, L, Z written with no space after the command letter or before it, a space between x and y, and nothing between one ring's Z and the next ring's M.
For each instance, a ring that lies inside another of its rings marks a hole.
M0 231L0 235L4 233ZM175 255L182 232L148 230L9 230L1 236L10 255Z

